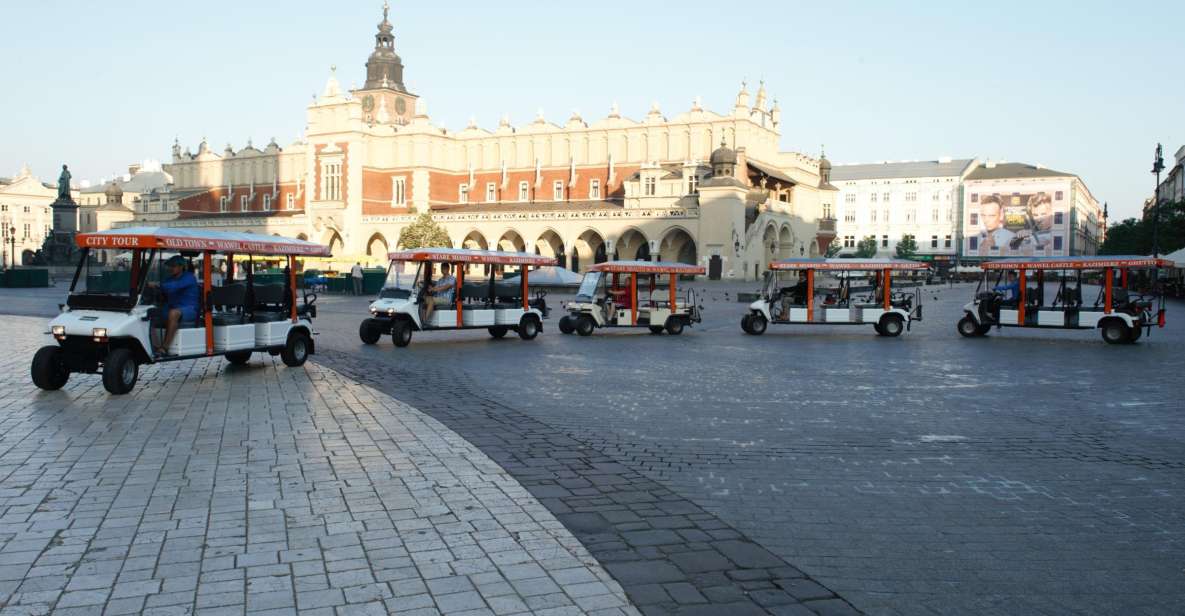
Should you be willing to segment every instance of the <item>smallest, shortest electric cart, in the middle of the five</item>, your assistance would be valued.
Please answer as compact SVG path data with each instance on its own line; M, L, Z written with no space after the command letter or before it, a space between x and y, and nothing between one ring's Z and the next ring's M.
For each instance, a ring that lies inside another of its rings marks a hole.
M600 327L646 327L652 334L666 332L679 335L683 328L700 322L700 306L694 291L687 289L679 303L679 276L703 276L704 268L686 263L654 261L607 261L588 269L576 301L568 304L568 314L559 320L559 331L590 335ZM639 299L638 277L647 280ZM667 276L666 289L656 288L656 278Z

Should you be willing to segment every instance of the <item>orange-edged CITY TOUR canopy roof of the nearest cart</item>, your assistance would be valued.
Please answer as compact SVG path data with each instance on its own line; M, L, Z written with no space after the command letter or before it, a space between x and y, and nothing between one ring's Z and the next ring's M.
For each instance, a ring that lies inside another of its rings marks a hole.
M280 236L205 231L168 226L132 226L95 233L78 233L79 248L162 249L178 251L214 251L236 255L286 255L327 257L329 249L305 239Z

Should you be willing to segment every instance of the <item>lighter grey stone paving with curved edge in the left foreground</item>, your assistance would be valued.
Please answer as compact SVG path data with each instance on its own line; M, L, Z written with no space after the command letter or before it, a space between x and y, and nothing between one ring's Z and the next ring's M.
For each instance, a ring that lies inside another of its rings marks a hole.
M0 323L0 616L636 614L536 498L403 403L267 355L40 392L44 327Z

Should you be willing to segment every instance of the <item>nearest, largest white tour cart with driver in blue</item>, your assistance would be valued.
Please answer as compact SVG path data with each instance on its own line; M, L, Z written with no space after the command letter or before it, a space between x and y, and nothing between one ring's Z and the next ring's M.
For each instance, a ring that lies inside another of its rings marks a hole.
M50 321L57 345L41 347L32 362L33 383L43 390L62 389L71 373L102 373L114 394L135 387L141 365L225 355L245 364L251 353L280 355L300 366L313 353L316 296L303 301L296 288L297 256L328 256L320 244L277 236L213 232L196 229L129 227L76 238L82 254L62 314ZM165 354L164 327L153 323L153 310L164 310L158 284L167 276L164 262L185 259L200 285L197 319L181 321ZM213 256L225 255L228 271L217 272ZM255 284L248 268L235 276L235 255L287 258L287 276L278 284ZM155 332L154 332L155 329Z

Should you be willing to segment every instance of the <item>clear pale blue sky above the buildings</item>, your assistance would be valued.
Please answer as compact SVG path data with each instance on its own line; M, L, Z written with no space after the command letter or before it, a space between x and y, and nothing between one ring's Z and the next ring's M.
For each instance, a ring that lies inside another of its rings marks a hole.
M179 139L281 146L337 65L365 81L380 0L4 0L0 175L63 162L97 181ZM391 6L408 89L433 121L563 123L764 79L782 149L835 163L1021 161L1081 175L1112 220L1152 194L1157 142L1185 145L1185 2L469 1Z

